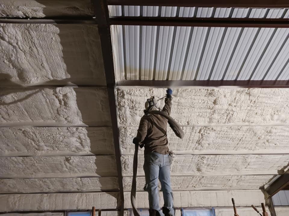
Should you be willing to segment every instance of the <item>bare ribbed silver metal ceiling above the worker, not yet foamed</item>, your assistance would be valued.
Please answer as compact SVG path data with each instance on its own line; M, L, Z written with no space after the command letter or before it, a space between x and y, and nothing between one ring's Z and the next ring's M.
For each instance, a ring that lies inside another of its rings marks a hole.
M111 16L289 18L288 8L110 6ZM287 80L289 29L112 26L117 80Z

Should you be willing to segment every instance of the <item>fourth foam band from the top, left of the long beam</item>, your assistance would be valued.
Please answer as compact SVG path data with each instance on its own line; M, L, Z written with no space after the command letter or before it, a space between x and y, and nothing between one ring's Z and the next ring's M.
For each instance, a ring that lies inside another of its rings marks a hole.
M92 154L114 154L110 127L0 128L1 157Z

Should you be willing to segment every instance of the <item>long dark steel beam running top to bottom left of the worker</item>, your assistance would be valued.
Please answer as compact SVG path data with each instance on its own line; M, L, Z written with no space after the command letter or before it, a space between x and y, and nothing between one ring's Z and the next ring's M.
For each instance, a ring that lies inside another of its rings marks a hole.
M120 189L120 216L123 216L124 194L123 194L123 173L120 149L120 133L118 127L118 110L116 82L114 75L113 50L111 44L111 32L109 23L109 12L106 0L91 0L94 13L98 21L98 33L101 41L101 50L104 63L104 72L107 85L107 95L110 108L110 118L113 131L113 143L117 165L118 184Z

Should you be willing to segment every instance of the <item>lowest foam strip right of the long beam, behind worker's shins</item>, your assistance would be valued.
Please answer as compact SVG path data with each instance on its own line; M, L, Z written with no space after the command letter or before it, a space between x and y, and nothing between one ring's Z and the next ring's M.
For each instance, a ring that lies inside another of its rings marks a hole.
M208 190L208 191L173 191L174 207L218 207L231 206L234 197L237 206L260 205L264 202L261 190ZM163 206L163 194L159 193L160 206ZM237 201L238 200L238 201ZM136 206L148 208L148 192L136 193ZM124 192L124 208L132 208L130 192Z

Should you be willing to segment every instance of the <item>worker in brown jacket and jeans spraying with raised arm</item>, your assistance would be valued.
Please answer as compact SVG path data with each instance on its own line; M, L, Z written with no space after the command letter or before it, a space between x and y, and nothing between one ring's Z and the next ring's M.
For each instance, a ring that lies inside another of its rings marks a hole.
M144 174L148 191L150 216L174 216L173 194L170 183L170 162L166 127L168 120L158 114L150 114L150 111L159 110L170 115L172 106L172 90L166 90L165 105L163 110L158 106L154 97L145 102L144 116L139 123L137 136L133 139L135 145L144 146ZM159 207L158 179L160 179L163 191L163 211Z

